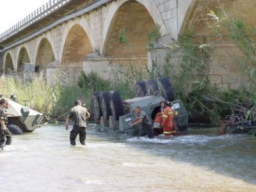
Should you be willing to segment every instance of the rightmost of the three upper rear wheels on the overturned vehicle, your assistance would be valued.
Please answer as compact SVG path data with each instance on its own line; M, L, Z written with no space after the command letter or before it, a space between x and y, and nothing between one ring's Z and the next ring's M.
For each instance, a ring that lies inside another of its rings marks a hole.
M162 78L157 80L158 90L164 99L173 101L174 100L174 93L172 90L172 85L168 78Z

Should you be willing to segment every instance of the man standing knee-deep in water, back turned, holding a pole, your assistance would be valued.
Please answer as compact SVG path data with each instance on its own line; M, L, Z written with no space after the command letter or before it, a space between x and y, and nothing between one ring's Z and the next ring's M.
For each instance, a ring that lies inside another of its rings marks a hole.
M70 144L76 145L76 137L79 134L79 140L82 145L85 145L86 139L86 120L90 118L90 113L86 108L82 107L82 102L77 99L74 108L70 109L67 118L65 129L68 131L68 122L70 118L74 121L73 129L70 131Z

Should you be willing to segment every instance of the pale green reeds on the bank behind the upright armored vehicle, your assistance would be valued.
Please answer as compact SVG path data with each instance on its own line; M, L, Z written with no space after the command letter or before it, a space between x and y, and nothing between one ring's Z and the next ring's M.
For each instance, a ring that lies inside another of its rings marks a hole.
M48 118L66 113L68 109L74 106L76 99L81 99L87 104L90 103L88 97L91 92L86 88L61 84L60 79L54 81L54 84L47 84L43 74L32 76L31 80L1 76L0 93L5 98L10 98L10 95L14 93L17 102L44 113Z

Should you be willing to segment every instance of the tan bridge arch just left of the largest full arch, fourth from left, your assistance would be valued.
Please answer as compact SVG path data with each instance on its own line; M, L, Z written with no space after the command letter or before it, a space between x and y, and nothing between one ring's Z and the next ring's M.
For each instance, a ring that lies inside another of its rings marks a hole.
M92 31L89 31L90 36L88 36L83 25L77 22L72 22L67 28L69 30L65 30L66 34L63 35L65 41L61 46L61 65L68 66L74 63L82 65L82 58L93 52L93 46L95 47Z

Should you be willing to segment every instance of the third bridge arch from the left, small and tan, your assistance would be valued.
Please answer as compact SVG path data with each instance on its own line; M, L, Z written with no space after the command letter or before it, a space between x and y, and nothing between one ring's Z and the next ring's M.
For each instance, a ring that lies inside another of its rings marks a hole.
M38 41L36 58L35 58L35 71L40 72L47 68L49 63L54 62L56 59L56 54L54 54L55 49L52 49L52 41L49 41L47 37L42 37L40 41Z

